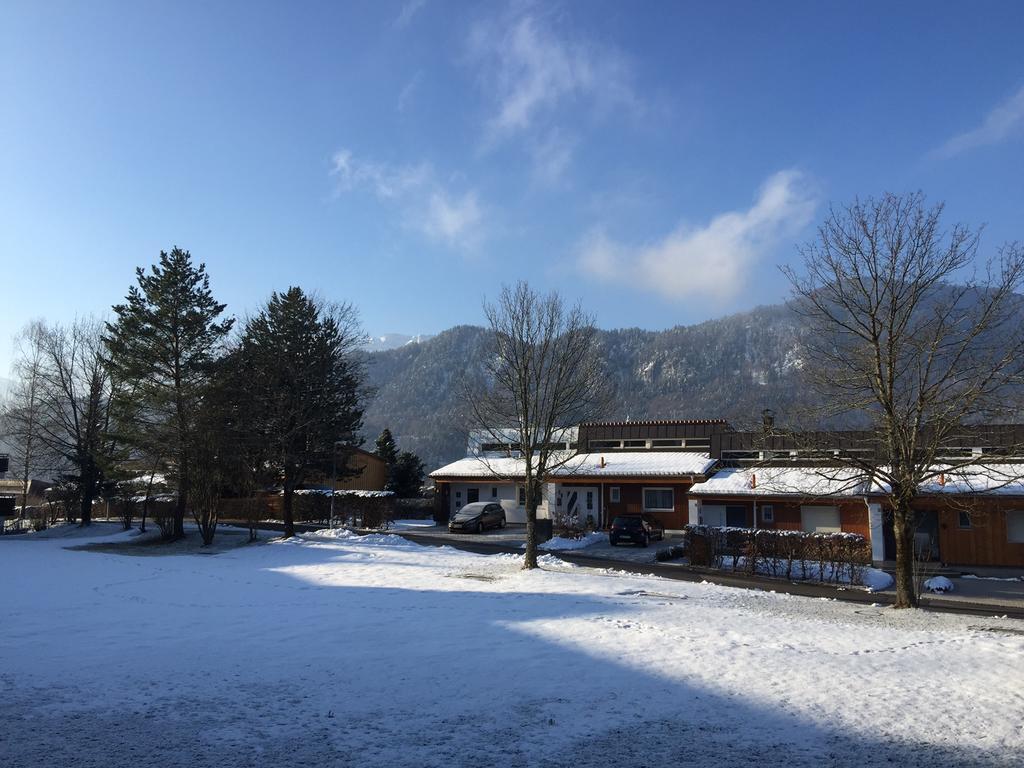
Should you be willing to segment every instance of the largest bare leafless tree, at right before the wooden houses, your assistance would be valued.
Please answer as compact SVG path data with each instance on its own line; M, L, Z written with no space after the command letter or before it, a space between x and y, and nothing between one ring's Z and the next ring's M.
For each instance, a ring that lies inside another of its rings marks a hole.
M826 403L818 417L867 427L866 450L836 460L885 489L901 607L918 604L914 500L926 483L992 461L948 449L968 425L1019 418L1024 386L1024 249L979 261L980 231L943 229L942 211L920 193L855 201L801 250L800 273L784 269L808 325L804 372Z

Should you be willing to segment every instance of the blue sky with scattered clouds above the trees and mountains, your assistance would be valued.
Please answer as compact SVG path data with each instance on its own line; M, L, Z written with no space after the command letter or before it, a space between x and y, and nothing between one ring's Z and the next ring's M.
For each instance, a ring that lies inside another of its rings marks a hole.
M1024 4L0 6L0 373L187 248L244 315L371 333L504 282L605 328L779 300L829 202L923 189L1024 238Z

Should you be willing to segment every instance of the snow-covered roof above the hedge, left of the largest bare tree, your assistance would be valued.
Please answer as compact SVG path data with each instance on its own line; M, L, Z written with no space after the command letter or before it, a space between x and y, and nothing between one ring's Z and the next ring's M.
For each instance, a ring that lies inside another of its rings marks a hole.
M862 472L845 467L723 469L690 488L697 496L855 497L867 493Z

